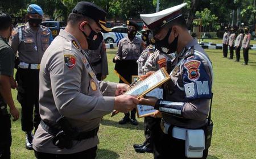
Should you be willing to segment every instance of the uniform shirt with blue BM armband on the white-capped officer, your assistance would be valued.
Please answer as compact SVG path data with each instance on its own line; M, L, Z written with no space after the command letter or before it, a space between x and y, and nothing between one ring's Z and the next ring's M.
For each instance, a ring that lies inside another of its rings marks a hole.
M212 97L213 70L209 57L193 39L174 58L171 68L175 69L164 86L164 101L155 108L167 123L184 128L202 127L207 123Z

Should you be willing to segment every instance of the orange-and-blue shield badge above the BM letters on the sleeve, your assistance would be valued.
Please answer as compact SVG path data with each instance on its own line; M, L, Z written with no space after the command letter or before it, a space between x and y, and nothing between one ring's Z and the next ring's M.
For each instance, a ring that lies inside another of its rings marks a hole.
M201 64L201 61L198 60L191 60L188 62L185 62L184 66L188 70L188 78L189 80L195 80L196 78L200 77L199 73L199 66Z

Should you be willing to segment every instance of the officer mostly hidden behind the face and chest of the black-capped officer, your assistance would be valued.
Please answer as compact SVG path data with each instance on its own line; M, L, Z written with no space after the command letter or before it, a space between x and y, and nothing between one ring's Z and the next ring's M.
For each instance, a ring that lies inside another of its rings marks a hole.
M100 47L97 50L89 51L90 62L93 66L93 69L96 72L96 77L98 81L102 81L109 74L108 69L108 59L106 55L106 46L105 41L102 40Z

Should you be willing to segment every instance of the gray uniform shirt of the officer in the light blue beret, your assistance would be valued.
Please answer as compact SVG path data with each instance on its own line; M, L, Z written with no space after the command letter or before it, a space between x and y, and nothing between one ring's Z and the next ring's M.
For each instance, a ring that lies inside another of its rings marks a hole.
M10 45L14 53L19 51L19 61L27 64L40 64L44 52L52 41L51 31L44 26L32 30L28 23L14 30Z

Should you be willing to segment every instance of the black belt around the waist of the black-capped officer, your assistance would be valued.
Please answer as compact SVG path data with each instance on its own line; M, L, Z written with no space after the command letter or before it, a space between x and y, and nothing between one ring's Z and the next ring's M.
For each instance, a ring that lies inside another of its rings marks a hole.
M56 135L57 133L59 133L61 131L61 128L57 128L57 127L52 127L51 125L49 125L48 123L44 122L43 120L41 120L40 122L42 128L47 131L48 133L50 133L51 135ZM92 129L91 131L84 131L84 132L77 132L72 134L72 139L73 140L84 140L84 139L89 139L92 138L94 136L96 136L98 133L98 127Z

